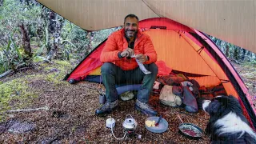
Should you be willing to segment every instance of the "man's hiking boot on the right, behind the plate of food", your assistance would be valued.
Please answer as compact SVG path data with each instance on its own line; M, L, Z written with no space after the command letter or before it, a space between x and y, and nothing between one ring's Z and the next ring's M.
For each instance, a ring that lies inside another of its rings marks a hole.
M145 102L140 102L138 99L135 103L135 110L141 111L143 114L156 115L158 114L155 110L150 108L150 106Z

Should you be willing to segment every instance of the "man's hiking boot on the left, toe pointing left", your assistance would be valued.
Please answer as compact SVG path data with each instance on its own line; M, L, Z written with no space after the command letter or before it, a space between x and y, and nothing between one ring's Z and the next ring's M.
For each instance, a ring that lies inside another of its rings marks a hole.
M118 106L118 100L115 100L114 102L106 102L101 108L95 111L95 114L96 115L109 114L117 106Z

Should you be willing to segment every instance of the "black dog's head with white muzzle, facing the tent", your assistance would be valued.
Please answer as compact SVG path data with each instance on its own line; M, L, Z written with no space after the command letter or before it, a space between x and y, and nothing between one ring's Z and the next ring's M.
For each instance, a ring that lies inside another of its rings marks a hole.
M202 102L202 109L205 110L210 116L224 116L231 111L236 114L242 114L242 108L236 98L233 96L217 96L210 100Z

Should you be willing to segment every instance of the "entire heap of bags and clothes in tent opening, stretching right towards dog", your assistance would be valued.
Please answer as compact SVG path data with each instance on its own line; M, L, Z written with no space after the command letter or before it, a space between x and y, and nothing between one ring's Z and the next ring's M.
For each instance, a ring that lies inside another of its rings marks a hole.
M160 83L160 84L159 84ZM218 86L200 86L199 83L183 74L158 75L153 94L159 94L159 101L166 106L184 107L190 113L202 109L204 99L211 100L218 95L226 95L222 84Z

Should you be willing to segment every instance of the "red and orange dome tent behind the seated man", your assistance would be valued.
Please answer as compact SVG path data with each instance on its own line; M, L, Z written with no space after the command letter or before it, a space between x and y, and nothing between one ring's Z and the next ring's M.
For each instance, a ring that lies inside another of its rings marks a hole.
M168 18L142 20L138 26L150 35L158 61L165 62L173 70L190 74L190 78L195 79L200 86L216 86L222 83L227 94L239 99L251 124L256 125L255 110L248 89L226 56L206 34ZM99 55L105 42L67 74L65 80L70 83L81 80L100 82L102 62Z

